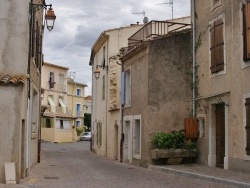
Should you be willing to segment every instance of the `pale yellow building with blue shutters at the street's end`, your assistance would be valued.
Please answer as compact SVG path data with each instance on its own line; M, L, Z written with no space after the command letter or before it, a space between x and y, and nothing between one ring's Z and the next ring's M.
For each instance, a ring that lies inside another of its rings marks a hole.
M72 115L76 117L76 127L84 126L84 113L86 113L86 110L88 109L88 106L85 106L84 100L85 87L87 87L86 84L78 83L73 79L68 78L67 106L72 112Z

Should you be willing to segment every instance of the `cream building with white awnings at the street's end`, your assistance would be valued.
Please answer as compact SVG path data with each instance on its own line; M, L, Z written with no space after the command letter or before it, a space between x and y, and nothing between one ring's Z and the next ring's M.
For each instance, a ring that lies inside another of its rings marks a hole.
M67 67L44 63L42 68L41 136L50 142L77 140L75 119L67 104Z

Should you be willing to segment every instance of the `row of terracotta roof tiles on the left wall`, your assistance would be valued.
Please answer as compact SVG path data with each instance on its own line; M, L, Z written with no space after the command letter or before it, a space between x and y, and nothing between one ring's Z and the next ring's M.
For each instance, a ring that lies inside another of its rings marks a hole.
M25 84L27 80L27 76L26 75L15 75L15 76L10 76L10 75L3 75L0 74L0 85L1 84L13 84L13 85L18 85L18 84Z

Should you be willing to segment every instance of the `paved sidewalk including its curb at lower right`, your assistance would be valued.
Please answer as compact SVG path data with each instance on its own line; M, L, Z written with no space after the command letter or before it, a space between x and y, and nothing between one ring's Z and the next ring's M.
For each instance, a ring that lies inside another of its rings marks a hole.
M181 176L218 182L225 185L250 188L250 173L225 170L221 168L211 168L199 164L149 165L148 168L167 173L175 173Z

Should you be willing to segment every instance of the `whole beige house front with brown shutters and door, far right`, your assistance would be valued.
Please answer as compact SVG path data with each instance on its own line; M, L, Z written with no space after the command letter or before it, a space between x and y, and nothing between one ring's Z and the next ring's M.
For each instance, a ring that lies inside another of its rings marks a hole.
M250 172L249 2L195 0L201 163Z

